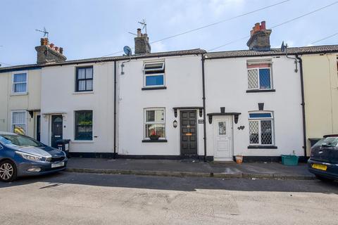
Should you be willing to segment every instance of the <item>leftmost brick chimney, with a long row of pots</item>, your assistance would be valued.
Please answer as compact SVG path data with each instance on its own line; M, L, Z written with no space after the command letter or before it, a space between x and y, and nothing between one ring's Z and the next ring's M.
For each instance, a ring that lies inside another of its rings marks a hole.
M63 56L63 48L54 46L53 43L49 44L49 40L46 37L40 41L40 46L35 47L37 51L37 64L56 63L67 60L67 58Z

